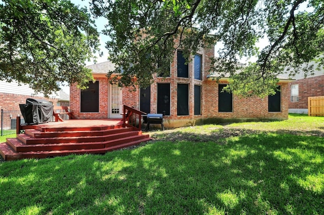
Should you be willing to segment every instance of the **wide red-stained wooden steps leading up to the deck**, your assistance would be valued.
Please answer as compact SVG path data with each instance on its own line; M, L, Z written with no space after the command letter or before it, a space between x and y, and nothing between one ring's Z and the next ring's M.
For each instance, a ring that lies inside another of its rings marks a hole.
M105 153L146 142L151 138L123 125L94 127L41 127L26 129L0 143L5 160L44 158L67 154Z

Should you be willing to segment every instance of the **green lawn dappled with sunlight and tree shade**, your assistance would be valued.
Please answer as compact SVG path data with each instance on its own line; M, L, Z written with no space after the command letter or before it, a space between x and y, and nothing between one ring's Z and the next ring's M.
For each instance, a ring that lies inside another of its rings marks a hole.
M0 214L323 214L321 122L189 127L104 155L3 162Z

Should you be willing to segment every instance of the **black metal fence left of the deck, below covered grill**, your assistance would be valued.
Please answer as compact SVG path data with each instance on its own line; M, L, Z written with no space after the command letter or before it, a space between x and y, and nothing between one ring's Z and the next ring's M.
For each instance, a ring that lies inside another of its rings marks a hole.
M21 116L20 111L6 111L1 109L1 136L16 133L17 116ZM20 124L24 123L24 118L21 118Z

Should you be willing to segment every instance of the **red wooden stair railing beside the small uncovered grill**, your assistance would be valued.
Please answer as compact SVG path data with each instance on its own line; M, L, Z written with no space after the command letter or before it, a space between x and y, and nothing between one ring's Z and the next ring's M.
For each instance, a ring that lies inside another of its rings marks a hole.
M147 114L127 105L124 105L123 113L124 126L133 127L135 130L141 131L142 115Z

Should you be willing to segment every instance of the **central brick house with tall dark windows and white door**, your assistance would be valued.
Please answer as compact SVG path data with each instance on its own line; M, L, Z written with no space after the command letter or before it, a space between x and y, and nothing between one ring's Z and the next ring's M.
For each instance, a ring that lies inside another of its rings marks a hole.
M166 127L198 125L206 122L247 119L288 119L290 88L288 78L280 78L273 96L241 98L221 92L227 78L219 82L209 74L214 46L205 47L185 64L182 51L175 52L170 77L154 77L146 88L119 88L110 84L106 74L114 69L111 62L88 66L96 82L80 90L70 86L70 110L78 119L121 118L123 104L145 113L165 113Z

